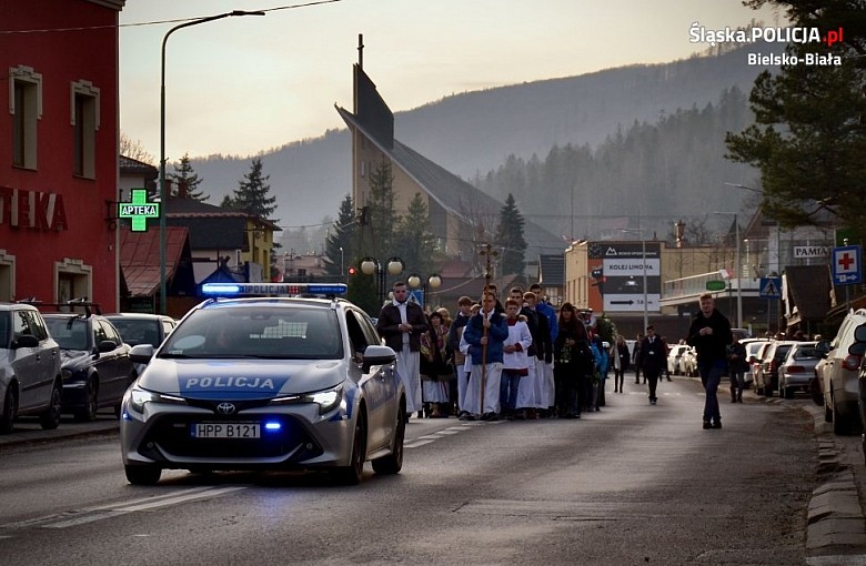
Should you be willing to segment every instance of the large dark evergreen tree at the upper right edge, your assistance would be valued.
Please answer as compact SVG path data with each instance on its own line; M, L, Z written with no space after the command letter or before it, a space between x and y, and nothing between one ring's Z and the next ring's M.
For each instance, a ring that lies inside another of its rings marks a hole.
M725 141L728 159L761 170L762 208L783 226L815 224L835 216L866 236L862 221L866 176L866 29L863 2L749 0L786 10L792 26L843 29L844 41L793 43L799 58L818 53L830 64L783 65L755 80L749 102L756 123ZM820 6L820 9L818 9ZM802 59L800 59L802 61Z

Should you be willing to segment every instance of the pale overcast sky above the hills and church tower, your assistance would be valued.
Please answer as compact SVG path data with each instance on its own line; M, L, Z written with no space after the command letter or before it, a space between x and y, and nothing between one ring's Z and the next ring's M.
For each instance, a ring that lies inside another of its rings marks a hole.
M121 131L159 159L160 46L180 21L165 64L167 158L251 155L343 128L352 64L393 111L443 97L632 63L686 58L708 46L688 29L735 28L768 10L739 0L127 0L120 14ZM296 8L280 9L295 6Z

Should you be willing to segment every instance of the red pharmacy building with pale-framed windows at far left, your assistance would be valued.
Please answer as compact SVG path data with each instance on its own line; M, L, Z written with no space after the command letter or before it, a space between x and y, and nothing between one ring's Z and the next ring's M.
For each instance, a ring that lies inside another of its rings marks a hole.
M0 301L88 296L118 309L123 6L0 3Z

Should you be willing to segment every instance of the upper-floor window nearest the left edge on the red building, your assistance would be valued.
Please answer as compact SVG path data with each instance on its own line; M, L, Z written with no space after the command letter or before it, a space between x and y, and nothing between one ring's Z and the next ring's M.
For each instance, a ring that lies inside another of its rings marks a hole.
M42 75L30 67L9 69L12 164L37 168L37 121L42 118Z

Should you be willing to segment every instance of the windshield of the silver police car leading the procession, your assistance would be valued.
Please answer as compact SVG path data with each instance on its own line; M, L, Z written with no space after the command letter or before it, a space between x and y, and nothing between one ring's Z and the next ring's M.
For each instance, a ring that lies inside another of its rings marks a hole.
M225 306L188 316L159 357L340 360L343 345L330 309Z

